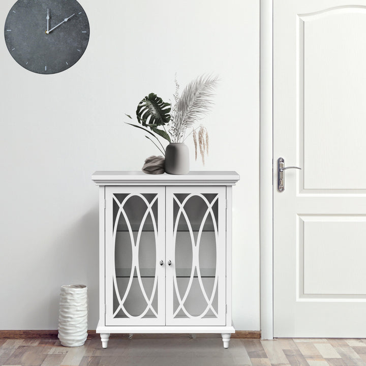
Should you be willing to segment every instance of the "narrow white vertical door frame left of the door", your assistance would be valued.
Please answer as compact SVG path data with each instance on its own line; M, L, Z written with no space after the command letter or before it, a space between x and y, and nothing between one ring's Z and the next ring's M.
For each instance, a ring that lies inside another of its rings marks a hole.
M273 0L260 0L260 327L262 339L273 339L273 173Z

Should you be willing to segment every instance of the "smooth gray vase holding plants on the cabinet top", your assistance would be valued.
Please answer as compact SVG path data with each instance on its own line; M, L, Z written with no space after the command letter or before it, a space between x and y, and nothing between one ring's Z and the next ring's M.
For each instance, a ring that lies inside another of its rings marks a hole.
M165 172L187 174L189 172L189 150L183 142L171 142L165 149Z

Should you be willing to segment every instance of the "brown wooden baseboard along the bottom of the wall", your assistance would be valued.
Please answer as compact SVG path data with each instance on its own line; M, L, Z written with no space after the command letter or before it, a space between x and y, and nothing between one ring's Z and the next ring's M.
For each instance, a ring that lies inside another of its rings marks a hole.
M0 339L57 339L57 330L0 330ZM110 338L128 338L129 334L111 334ZM134 339L151 339L151 338L186 338L187 334L134 334ZM215 338L220 337L219 334L197 334L197 338ZM237 330L231 334L231 338L241 339L260 339L260 330ZM100 339L100 334L95 330L88 330L87 339Z

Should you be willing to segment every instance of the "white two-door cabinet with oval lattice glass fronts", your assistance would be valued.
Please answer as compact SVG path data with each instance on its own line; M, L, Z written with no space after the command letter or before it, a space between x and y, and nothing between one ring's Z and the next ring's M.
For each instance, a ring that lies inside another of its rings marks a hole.
M97 332L221 333L231 321L236 172L95 172L100 187Z

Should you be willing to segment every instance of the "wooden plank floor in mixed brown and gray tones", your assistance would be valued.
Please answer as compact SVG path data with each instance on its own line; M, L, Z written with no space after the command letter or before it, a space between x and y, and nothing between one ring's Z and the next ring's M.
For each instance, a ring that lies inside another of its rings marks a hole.
M103 349L97 339L68 348L56 340L0 339L0 365L120 366L353 366L366 365L366 340L232 339L221 338L110 339Z

